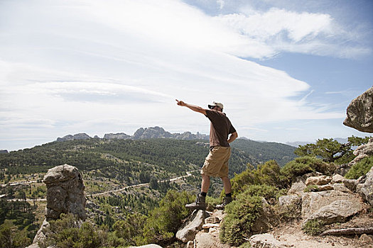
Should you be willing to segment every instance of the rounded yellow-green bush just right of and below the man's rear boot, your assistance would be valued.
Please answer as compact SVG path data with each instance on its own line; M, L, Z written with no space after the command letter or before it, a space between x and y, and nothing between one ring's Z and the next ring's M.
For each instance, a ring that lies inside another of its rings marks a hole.
M251 228L262 208L261 197L239 194L225 207L227 216L222 222L220 240L235 246L241 244L243 237L250 237Z

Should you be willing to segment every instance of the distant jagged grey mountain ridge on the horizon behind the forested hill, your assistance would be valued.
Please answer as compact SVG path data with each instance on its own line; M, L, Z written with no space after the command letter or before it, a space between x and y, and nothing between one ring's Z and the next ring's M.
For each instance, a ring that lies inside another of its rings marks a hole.
M97 135L93 138L99 139ZM200 133L169 133L163 128L158 126L152 128L139 128L136 130L134 135L127 135L126 133L107 133L103 137L105 140L144 140L144 139L159 139L159 138L169 138L175 140L208 140L209 135L203 135ZM77 133L75 135L66 135L64 137L58 137L58 142L63 142L67 140L89 140L92 139L90 135L86 133Z

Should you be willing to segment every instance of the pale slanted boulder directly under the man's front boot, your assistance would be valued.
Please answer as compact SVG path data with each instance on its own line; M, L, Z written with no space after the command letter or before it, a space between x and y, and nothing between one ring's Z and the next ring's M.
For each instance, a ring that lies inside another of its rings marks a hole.
M205 218L209 217L206 211L194 210L188 217L188 220L176 232L176 238L187 243L195 238L199 230L202 230L202 225L205 223Z

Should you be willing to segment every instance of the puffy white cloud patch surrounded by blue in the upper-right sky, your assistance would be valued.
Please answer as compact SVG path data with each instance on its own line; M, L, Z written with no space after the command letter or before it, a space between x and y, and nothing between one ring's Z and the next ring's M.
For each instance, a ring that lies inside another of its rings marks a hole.
M220 15L215 19L247 40L258 42L263 52L267 47L267 53L262 57L272 57L280 52L299 52L352 58L372 52L371 48L358 43L354 30L346 30L330 14L245 9L242 13ZM247 57L256 56L249 50L246 52L244 55Z

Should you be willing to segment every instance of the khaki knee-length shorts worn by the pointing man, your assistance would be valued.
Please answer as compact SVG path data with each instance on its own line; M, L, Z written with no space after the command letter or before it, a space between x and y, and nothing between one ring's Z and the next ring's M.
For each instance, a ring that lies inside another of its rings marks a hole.
M231 147L213 147L205 159L201 174L206 176L228 177L228 164Z

